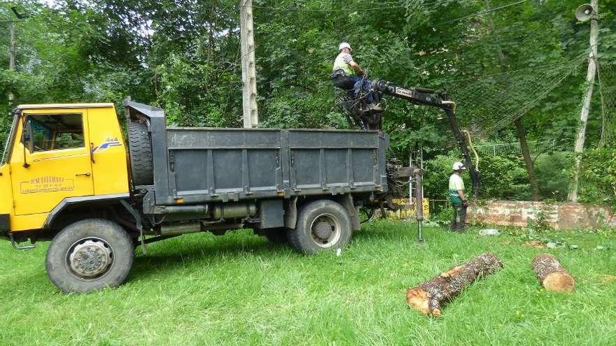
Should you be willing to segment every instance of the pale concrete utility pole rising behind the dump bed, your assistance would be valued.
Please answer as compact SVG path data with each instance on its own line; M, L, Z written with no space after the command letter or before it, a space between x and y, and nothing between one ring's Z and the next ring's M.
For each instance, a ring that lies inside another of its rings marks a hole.
M259 124L252 0L241 1L239 7L239 29L241 36L241 80L244 128L250 129Z

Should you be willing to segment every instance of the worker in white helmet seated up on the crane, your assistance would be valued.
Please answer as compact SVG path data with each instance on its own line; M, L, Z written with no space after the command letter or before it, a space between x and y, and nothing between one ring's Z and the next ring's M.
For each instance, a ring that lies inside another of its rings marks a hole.
M340 89L353 89L355 95L360 94L361 89L367 92L366 101L369 110L380 112L382 110L379 104L374 103L376 99L372 92L372 83L365 79L365 70L359 66L351 56L353 49L349 43L340 43L339 54L334 60L331 78L336 87Z

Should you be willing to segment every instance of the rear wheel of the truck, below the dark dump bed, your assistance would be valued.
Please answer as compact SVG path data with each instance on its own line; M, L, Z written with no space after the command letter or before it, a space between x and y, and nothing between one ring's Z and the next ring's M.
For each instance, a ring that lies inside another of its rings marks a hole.
M295 229L288 234L289 243L302 254L337 250L351 240L351 218L342 206L326 199L302 206Z

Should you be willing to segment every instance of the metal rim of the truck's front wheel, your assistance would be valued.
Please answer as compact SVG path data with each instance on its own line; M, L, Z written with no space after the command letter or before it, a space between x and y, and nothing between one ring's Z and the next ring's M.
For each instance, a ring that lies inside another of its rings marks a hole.
M85 238L66 252L66 264L73 275L83 280L96 280L113 267L113 249L100 238Z

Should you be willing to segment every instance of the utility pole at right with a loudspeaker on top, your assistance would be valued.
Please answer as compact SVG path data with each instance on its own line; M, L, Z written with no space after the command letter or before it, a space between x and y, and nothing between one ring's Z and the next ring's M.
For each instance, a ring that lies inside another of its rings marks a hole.
M588 122L588 114L590 111L590 102L592 101L592 91L594 89L594 79L596 76L597 67L597 40L599 34L598 24L598 0L590 1L591 8L587 8L586 15L590 17L590 54L588 56L588 72L586 74L586 94L582 103L582 112L580 113L580 128L577 131L577 140L575 140L575 171L573 172L573 182L569 189L568 201L577 202L577 187L580 185L580 168L582 167L582 152L584 151L584 140L586 139L586 125ZM583 6L580 6L582 8ZM584 8L582 8L584 9ZM579 10L578 10L579 11ZM577 13L576 13L577 17ZM577 18L582 20L581 17Z

